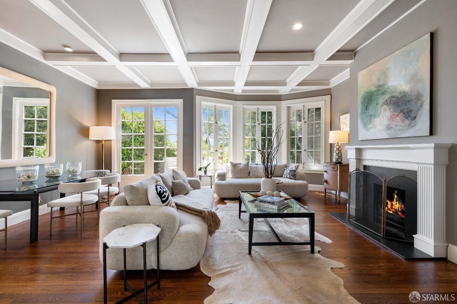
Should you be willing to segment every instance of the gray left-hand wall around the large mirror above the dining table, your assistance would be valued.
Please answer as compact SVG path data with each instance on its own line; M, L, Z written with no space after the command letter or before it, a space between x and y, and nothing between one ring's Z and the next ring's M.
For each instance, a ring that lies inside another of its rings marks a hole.
M94 168L96 144L88 137L89 126L96 125L96 89L6 44L0 43L0 54L0 66L56 87L56 162L82 161L83 170ZM1 180L15 178L15 168L0 169ZM41 198L47 203L58 198L58 192L44 193ZM29 209L30 203L0 202L0 206L16 213Z

